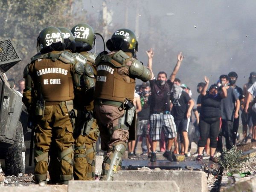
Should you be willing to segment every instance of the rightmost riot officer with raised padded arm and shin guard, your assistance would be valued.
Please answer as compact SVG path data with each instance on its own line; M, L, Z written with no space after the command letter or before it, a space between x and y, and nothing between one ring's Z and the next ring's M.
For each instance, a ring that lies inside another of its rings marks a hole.
M152 73L134 58L138 42L131 30L117 30L106 46L111 52L102 52L96 58L94 114L102 150L108 151L102 165L101 180L113 180L114 172L121 167L129 128L134 123L135 79L148 81Z

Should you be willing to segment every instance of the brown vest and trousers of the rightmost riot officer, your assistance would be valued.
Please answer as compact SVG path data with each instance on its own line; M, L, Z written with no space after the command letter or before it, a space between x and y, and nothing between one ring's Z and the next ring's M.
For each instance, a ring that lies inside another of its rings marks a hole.
M128 70L134 58L128 52L126 54L130 58L119 63L113 59L115 53L103 54L96 59L94 113L99 125L101 148L108 150L102 164L103 180L111 180L112 178L106 176L108 172L116 172L121 168L121 158L129 137L129 126L120 119L126 113L124 102L133 102L135 90L135 77L132 77ZM113 162L115 158L117 160ZM111 163L114 163L113 169Z

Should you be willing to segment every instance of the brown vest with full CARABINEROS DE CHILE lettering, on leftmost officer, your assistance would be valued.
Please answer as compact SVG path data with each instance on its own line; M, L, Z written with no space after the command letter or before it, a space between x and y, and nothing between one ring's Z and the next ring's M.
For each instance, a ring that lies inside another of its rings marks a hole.
M59 52L52 52L58 54ZM33 79L38 93L49 102L60 102L74 99L72 64L51 58L37 59L32 67Z

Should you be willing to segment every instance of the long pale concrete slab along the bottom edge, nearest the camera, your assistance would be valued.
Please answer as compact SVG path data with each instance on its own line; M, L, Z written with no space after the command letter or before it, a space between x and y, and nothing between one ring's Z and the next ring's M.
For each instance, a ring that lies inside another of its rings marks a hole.
M174 181L70 181L68 192L179 192Z

